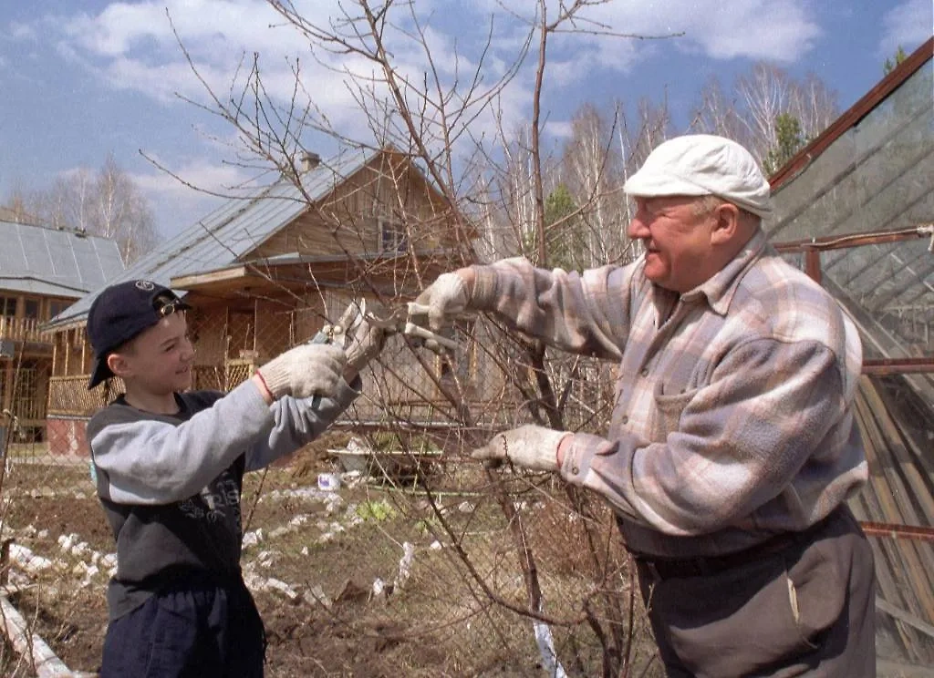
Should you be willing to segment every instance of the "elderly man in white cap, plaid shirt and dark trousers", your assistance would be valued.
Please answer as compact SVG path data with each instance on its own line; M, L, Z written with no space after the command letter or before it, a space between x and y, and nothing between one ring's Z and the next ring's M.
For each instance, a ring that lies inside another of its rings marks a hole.
M488 311L619 363L606 436L527 425L474 457L613 505L670 676L874 676L872 552L845 505L867 478L855 326L767 244L769 184L741 145L674 138L624 190L635 263L505 259L417 298L435 328Z

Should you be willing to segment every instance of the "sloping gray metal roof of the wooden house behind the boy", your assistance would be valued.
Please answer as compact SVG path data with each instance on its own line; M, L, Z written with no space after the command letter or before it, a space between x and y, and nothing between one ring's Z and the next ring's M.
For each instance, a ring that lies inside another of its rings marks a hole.
M335 186L358 172L379 150L355 150L341 154L302 174L304 192L312 201L327 196ZM242 197L231 198L211 214L163 242L148 256L134 262L119 277L106 284L147 279L168 285L172 278L229 266L247 256L262 242L288 226L307 209L302 191L290 179L258 187ZM106 284L78 299L49 324L49 327L80 323L87 317L95 297Z

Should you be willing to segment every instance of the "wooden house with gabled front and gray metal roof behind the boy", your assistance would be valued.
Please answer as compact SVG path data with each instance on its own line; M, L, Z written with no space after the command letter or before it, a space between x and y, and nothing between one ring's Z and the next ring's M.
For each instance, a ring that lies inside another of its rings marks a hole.
M472 238L462 223L395 149L328 161L308 154L300 181L283 176L226 201L107 283L147 279L183 295L193 307L195 388L227 390L336 321L352 299L367 298L371 309L388 312L443 270L462 265ZM92 353L85 325L99 291L50 325L59 356L50 379L53 453L84 450L85 424L110 397L104 386L86 389ZM426 370L412 365L400 371L406 359L397 353L384 353L383 362L398 364L381 381L383 402L430 402L438 395L431 375L425 381ZM437 356L430 361L438 374L450 370Z

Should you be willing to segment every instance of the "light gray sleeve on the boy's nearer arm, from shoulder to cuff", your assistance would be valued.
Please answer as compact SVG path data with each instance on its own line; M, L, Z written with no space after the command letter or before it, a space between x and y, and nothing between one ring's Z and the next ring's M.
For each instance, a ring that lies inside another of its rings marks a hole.
M274 422L251 381L182 423L105 408L88 425L97 491L117 504L187 499L268 436Z

